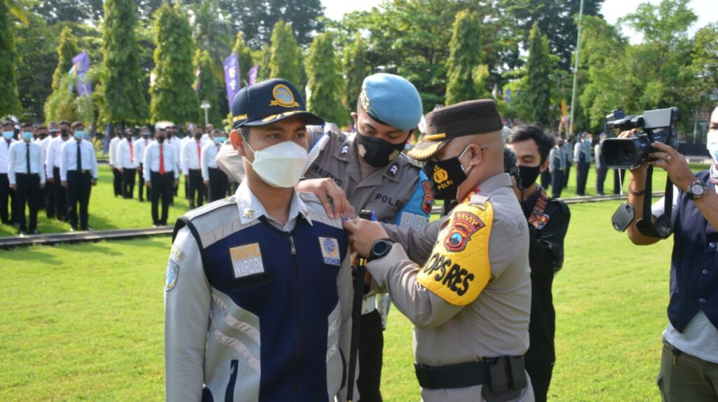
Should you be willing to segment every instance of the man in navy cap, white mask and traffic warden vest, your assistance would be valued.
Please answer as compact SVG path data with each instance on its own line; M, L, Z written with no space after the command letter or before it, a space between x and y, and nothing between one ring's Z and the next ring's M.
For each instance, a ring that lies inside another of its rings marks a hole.
M182 216L165 286L167 401L345 400L351 331L348 242L340 219L297 193L307 124L291 82L232 102L234 197Z

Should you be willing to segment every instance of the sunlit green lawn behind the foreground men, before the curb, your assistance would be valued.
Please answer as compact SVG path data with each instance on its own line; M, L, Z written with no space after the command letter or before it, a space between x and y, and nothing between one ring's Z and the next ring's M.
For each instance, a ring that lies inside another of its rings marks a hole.
M552 401L659 400L672 240L633 246L610 225L617 204L571 206L566 262L554 282ZM108 216L140 205L117 200ZM164 400L168 255L167 236L1 251L0 400ZM386 401L419 399L411 330L393 309Z

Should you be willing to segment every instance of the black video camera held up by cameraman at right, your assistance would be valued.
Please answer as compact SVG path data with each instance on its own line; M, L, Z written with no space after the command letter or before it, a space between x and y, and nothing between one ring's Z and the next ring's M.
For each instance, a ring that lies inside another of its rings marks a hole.
M606 116L608 128L620 130L642 130L630 138L608 138L601 145L601 155L606 166L614 169L631 169L648 161L653 152L651 143L664 143L678 147L678 135L673 126L681 120L681 109L646 110L642 116L626 116L623 110L613 110Z

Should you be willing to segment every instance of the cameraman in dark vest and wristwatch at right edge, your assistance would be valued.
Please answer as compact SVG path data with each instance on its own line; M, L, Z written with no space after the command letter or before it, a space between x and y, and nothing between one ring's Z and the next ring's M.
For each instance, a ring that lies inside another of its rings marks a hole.
M629 138L635 130L619 138ZM663 401L718 400L718 107L709 123L708 150L714 163L709 171L692 173L686 158L668 145L651 144L653 166L673 181L673 256L668 327L658 388ZM631 170L628 204L643 216L648 163ZM650 196L650 194L648 195ZM653 204L655 222L664 211L663 199ZM638 231L635 219L628 228L634 244L658 242Z

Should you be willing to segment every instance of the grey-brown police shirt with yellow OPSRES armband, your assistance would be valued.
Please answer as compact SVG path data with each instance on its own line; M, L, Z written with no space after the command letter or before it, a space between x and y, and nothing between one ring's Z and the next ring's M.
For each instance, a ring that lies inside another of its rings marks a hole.
M528 223L507 173L488 178L479 188L445 219L418 229L438 234L423 267L411 262L401 243L367 264L373 279L414 323L417 363L452 365L523 355L528 349ZM421 390L427 402L476 401L480 395L481 386ZM533 400L531 386L519 400Z

